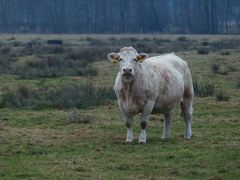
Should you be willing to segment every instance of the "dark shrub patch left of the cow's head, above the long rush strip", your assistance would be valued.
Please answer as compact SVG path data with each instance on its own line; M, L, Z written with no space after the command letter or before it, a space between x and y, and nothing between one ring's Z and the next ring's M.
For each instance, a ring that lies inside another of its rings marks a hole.
M23 65L11 66L12 72L21 78L58 77L63 75L96 76L97 69L89 65L97 61L102 54L95 48L71 51L65 55L32 56ZM0 62L1 63L1 62Z

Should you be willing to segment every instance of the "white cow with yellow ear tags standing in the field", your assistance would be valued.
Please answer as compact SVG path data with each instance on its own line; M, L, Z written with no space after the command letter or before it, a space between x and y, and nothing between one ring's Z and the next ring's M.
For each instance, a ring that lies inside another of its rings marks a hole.
M181 104L186 122L185 139L192 136L192 77L187 63L172 54L148 58L133 47L121 48L119 53L108 54L112 62L119 62L114 90L126 121L126 143L133 141L133 115L141 113L139 143L147 140L146 126L152 111L164 116L162 139L170 137L170 111Z

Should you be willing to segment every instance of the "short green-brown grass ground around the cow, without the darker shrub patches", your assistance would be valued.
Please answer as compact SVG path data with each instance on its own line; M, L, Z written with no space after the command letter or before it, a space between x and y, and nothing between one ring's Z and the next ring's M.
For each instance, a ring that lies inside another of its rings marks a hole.
M0 42L4 46L12 40L26 43L36 39L62 39L64 46L81 48L81 40L88 37L91 35L0 35ZM134 38L135 41L155 35L116 37L117 40ZM174 44L182 36L156 37L170 39L168 43ZM184 37L199 43L240 40L240 36ZM94 35L93 38L104 41L113 35ZM186 42L186 39L182 40ZM209 53L201 54L194 48L186 48L176 54L188 62L195 80L213 84L215 93L222 91L229 99L220 101L215 95L194 99L191 140L183 139L184 122L179 108L173 112L169 141L160 138L161 116L152 115L147 129L148 143L137 143L140 129L136 117L135 141L126 145L126 129L116 100L85 109L1 106L0 179L239 179L240 44L224 46L224 49L211 49L207 43L205 45L210 49ZM154 49L151 52L155 54ZM30 59L34 59L34 55L31 54ZM17 58L14 66L28 61L29 55ZM216 73L213 64L220 65ZM111 88L117 65L106 58L91 65L98 73L90 78L77 75L19 78L14 73L1 73L0 94L4 94L6 87L17 89L27 84L32 88L55 88L65 83L83 84L89 79L97 87ZM86 123L70 121L68 116L72 111L87 119Z

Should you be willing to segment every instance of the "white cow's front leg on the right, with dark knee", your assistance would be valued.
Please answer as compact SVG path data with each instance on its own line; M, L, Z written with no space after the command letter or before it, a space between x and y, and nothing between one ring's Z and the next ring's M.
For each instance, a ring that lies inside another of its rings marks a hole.
M147 142L146 128L147 128L147 123L151 116L154 104L155 104L154 101L148 101L147 104L144 106L143 113L141 116L141 122L140 122L141 132L139 135L139 141L138 141L139 144L145 144Z

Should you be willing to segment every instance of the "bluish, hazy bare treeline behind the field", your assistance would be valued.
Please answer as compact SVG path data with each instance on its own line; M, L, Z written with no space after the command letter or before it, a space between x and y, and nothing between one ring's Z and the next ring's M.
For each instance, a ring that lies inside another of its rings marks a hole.
M239 0L0 0L0 32L240 32Z

